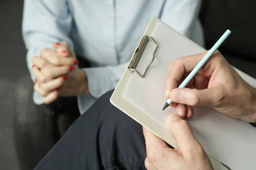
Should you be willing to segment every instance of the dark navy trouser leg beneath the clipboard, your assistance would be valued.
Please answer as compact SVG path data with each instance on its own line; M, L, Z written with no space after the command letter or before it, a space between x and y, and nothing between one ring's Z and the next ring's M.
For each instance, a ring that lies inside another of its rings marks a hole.
M142 126L100 97L64 134L35 170L143 170Z

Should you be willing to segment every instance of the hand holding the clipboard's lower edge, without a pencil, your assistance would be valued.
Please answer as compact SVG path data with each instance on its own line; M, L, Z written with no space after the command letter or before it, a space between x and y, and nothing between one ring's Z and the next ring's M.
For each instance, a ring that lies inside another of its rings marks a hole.
M145 167L148 170L213 170L207 154L185 120L172 114L169 127L179 146L175 149L169 148L162 139L143 127L147 153Z

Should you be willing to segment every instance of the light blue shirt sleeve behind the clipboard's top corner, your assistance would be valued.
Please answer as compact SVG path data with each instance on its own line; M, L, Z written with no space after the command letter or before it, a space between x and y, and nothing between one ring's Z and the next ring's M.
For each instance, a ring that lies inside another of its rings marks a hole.
M204 46L203 28L198 18L201 3L201 0L166 0L160 19L180 34Z

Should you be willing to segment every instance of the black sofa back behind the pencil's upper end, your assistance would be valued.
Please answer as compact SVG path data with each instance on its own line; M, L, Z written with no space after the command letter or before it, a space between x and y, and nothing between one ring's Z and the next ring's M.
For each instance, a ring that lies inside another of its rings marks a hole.
M230 29L219 51L236 68L256 78L256 0L203 0L206 49Z

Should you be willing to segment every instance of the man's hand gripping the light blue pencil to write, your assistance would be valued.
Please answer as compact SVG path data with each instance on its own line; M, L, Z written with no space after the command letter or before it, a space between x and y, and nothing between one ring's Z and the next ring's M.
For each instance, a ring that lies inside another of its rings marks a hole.
M182 118L193 115L191 106L214 108L231 118L256 122L256 90L242 79L219 51L208 60L186 88L177 88L206 52L175 60L166 79L166 99Z

